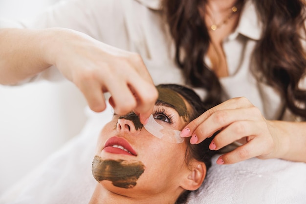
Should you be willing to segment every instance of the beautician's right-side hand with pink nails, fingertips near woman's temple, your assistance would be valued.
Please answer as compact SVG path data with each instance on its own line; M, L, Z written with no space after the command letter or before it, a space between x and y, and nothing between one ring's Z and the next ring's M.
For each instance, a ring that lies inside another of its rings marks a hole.
M219 150L235 141L242 143L221 155L217 160L219 164L237 163L252 157L285 158L288 153L288 132L282 129L283 124L265 120L257 107L241 97L206 111L190 122L181 136L192 136L190 143L200 143L220 130L209 145L210 149Z

